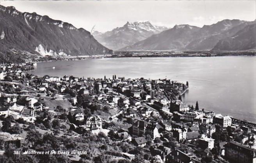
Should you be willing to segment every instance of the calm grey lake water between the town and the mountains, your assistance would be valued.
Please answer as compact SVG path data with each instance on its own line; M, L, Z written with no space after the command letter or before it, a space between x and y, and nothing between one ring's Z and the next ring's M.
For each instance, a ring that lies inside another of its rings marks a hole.
M52 69L52 67L55 69ZM256 57L108 58L42 62L35 75L112 78L170 78L189 82L183 102L256 122Z

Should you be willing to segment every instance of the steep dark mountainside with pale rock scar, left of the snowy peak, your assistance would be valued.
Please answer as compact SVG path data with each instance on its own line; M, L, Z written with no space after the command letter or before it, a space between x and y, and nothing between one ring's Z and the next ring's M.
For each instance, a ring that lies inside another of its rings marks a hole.
M39 55L110 54L83 28L36 13L0 5L0 53L15 51ZM16 54L13 54L16 55ZM15 57L15 56L13 56Z

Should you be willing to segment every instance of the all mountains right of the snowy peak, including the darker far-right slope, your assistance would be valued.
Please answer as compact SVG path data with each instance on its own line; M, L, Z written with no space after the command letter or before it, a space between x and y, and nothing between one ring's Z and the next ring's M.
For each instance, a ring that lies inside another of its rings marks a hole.
M204 25L202 28L190 26L188 24L175 25L171 29L152 35L145 40L139 41L120 50L255 49L256 29L253 24L255 24L255 21L247 22L237 19L225 19L212 25ZM250 35L249 33L251 33L251 36L247 37ZM234 39L235 36L237 36L236 39ZM240 38L244 38L244 40L239 40ZM247 45L248 43L250 45ZM239 44L239 46L233 46L234 44Z

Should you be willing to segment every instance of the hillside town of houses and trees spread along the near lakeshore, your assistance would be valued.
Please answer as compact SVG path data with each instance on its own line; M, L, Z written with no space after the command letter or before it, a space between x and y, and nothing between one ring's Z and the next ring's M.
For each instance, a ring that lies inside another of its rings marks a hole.
M36 76L34 66L0 64L0 162L256 161L256 125L186 104L189 81ZM25 154L53 150L70 152Z

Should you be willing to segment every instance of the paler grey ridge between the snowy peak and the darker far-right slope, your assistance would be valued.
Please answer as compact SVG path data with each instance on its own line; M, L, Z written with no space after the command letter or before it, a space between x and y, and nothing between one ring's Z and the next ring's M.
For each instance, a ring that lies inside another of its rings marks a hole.
M253 23L255 22L225 19L202 28L188 24L176 25L120 50L225 50L223 46L215 48L215 45ZM247 50L244 47L236 50L240 49Z

